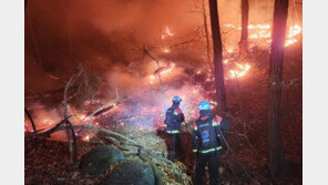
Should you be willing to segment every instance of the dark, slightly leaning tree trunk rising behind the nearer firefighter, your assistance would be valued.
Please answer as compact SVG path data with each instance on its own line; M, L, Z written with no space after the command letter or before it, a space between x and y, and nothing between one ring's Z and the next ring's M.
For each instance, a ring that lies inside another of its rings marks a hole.
M215 86L217 94L217 111L224 115L226 111L226 96L224 86L224 71L223 71L223 58L222 58L222 40L219 32L219 21L217 13L217 0L209 0L211 12L211 28L213 37L214 49L214 72L215 72Z

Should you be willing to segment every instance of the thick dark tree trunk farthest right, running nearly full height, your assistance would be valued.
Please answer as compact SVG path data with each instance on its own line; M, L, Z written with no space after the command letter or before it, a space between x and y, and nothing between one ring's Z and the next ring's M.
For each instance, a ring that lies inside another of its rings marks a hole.
M284 175L284 151L280 134L279 106L281 99L281 78L287 14L288 0L276 0L268 88L268 166L270 175L274 179L281 179Z

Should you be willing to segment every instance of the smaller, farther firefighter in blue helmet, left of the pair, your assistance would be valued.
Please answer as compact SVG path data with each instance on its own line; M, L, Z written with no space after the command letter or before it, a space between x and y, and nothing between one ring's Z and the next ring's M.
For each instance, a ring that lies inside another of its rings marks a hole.
M182 99L177 95L173 97L173 104L170 109L167 109L164 121L164 123L166 124L166 133L172 136L173 141L173 145L168 154L168 160L171 160L172 162L175 161L176 150L178 153L182 154L180 131L181 124L184 122L184 114L182 110L178 107Z

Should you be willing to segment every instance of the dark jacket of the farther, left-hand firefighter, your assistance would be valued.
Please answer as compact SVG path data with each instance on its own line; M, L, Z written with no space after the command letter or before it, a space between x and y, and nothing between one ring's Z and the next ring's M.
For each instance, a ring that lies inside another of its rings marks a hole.
M173 104L166 111L165 121L166 132L168 134L177 134L181 131L181 123L184 122L184 114L178 105Z

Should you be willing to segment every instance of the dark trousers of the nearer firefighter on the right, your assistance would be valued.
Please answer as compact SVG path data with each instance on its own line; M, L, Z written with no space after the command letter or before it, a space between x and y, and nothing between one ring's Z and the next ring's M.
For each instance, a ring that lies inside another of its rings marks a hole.
M218 185L218 165L219 165L219 155L218 152L209 152L206 154L197 154L196 156L196 174L195 174L195 185L203 185L205 166L208 164L209 173L209 185Z

